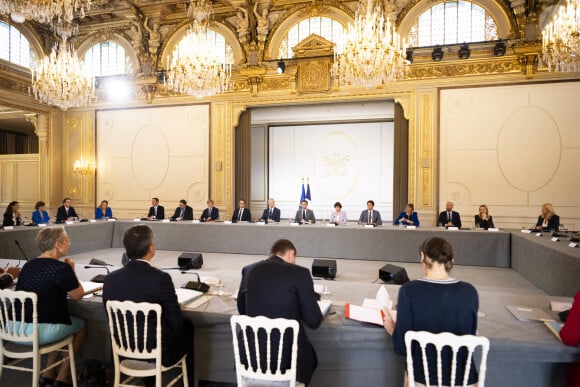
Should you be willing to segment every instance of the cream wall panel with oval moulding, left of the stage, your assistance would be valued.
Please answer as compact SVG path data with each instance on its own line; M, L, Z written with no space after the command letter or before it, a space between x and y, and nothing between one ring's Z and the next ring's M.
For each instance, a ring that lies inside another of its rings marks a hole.
M180 199L203 208L209 106L99 111L97 160L97 202L109 200L117 217L143 216L154 196L167 216Z

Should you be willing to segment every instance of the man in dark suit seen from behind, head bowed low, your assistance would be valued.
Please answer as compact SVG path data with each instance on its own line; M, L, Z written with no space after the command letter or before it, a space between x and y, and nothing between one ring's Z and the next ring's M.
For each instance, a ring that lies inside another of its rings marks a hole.
M308 341L304 325L318 328L322 322L322 313L310 272L295 263L294 244L287 239L276 241L270 249L270 258L242 269L237 303L240 314L298 321L300 331L296 380L307 385L318 359ZM272 347L277 345L272 344ZM285 348L288 347L285 345Z

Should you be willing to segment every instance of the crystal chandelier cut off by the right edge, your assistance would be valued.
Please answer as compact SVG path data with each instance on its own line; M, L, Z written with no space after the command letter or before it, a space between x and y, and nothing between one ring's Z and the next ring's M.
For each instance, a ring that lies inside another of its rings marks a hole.
M554 6L542 30L543 61L548 71L580 71L580 0Z

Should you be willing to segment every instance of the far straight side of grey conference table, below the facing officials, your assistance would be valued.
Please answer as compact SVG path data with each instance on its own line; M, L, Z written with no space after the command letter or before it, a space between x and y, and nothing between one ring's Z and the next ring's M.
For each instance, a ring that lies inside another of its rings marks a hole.
M122 247L123 234L134 221L66 224L72 239L71 254L99 248ZM366 228L356 224L329 227L327 224L292 226L288 223L260 224L223 222L146 222L155 233L161 250L202 251L235 254L265 254L280 238L291 240L298 254L306 257L417 262L418 247L428 237L447 239L455 263L469 266L510 267L510 233L505 231L444 228L407 229L396 226ZM0 232L0 258L34 257L35 227Z

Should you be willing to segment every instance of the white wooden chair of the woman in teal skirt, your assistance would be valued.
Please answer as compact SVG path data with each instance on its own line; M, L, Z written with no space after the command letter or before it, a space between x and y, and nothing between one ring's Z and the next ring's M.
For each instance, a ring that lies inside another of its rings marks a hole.
M32 386L38 386L40 374L48 369L57 367L70 358L71 379L74 387L77 386L77 373L73 349L73 335L67 336L58 342L40 345L38 343L38 314L36 293L0 290L0 378L4 368L32 372ZM25 308L32 308L32 322L25 324ZM30 327L32 324L32 327ZM44 354L61 351L68 352L68 356L48 367L41 368L41 357ZM4 364L4 359L12 359ZM32 368L18 365L24 359L32 359Z

